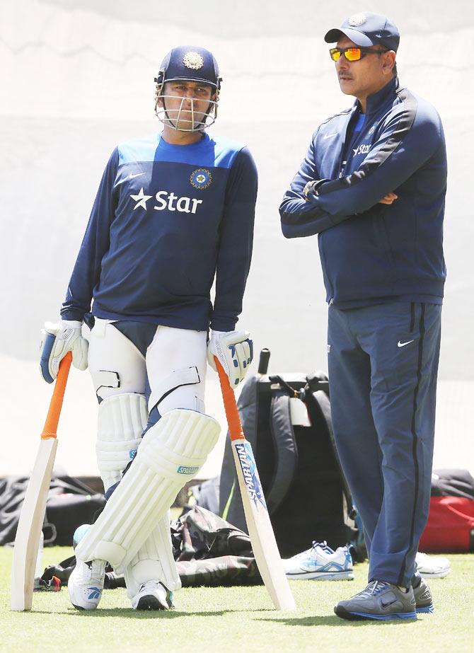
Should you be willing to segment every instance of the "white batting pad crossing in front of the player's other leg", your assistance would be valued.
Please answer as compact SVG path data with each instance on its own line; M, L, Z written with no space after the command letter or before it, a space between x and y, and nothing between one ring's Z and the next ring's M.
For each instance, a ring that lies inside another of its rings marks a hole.
M108 560L123 573L180 489L200 470L219 431L219 422L194 410L163 415L141 440L133 465L76 546L76 558Z

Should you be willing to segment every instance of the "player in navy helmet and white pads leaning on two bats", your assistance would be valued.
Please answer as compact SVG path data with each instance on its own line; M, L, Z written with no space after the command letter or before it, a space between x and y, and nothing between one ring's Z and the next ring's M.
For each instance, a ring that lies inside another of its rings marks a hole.
M220 430L206 413L207 364L216 369L217 359L235 388L252 362L250 334L236 323L258 175L245 144L205 131L220 83L202 47L165 57L156 77L163 129L112 151L61 321L42 333L45 381L71 351L98 399L96 458L108 502L100 521L76 533L68 591L79 610L98 608L106 561L124 575L132 608L173 606L181 582L168 509Z

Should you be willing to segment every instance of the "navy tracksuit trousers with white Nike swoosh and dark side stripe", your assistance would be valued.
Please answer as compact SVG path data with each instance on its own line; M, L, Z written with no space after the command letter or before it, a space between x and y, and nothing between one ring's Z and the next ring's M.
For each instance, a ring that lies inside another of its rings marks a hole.
M337 451L364 525L369 581L409 586L429 512L441 306L329 307Z

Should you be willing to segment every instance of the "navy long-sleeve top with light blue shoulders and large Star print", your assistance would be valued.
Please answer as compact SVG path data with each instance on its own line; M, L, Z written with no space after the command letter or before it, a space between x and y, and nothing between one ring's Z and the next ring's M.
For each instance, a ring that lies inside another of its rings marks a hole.
M257 171L245 146L161 134L110 156L61 316L233 330L250 267ZM210 290L216 277L214 307Z

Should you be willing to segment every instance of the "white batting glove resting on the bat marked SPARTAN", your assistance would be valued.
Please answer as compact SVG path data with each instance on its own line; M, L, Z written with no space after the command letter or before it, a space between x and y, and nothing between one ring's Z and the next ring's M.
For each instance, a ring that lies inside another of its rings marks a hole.
M207 362L216 369L214 356L219 359L235 388L247 374L253 359L253 342L248 331L212 331L207 343Z

